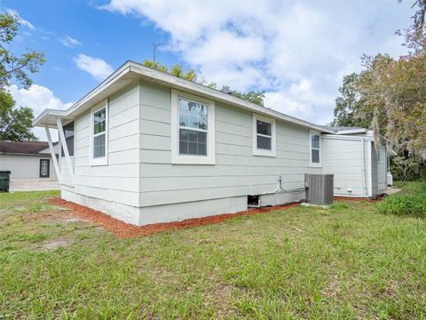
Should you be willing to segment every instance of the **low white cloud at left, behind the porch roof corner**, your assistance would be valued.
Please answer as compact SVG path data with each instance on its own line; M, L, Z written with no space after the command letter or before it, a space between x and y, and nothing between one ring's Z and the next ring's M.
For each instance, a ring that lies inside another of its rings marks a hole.
M18 107L29 107L34 111L34 116L38 116L45 108L53 109L67 109L73 105L72 102L63 102L54 95L49 88L43 85L33 84L31 87L26 89L20 89L17 85L12 84L9 87L9 91L12 94L13 99L16 101ZM36 137L40 140L46 140L46 135L43 128L35 128L34 130ZM56 130L51 131L52 139L57 137Z

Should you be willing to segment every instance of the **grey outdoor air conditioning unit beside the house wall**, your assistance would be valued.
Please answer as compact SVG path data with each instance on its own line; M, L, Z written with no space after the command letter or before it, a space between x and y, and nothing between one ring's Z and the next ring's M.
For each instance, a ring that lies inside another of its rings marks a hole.
M304 174L306 202L308 204L333 204L333 174Z

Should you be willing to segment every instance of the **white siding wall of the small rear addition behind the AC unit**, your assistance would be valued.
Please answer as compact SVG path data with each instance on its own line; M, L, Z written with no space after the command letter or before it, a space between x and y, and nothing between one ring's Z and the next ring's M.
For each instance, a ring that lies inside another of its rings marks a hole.
M366 157L367 153L367 143L365 143ZM364 183L367 186L367 180L365 181L363 176L361 140L336 140L323 137L321 155L322 173L335 176L335 194L363 196ZM365 164L367 169L367 161ZM352 193L347 192L348 188L352 189Z

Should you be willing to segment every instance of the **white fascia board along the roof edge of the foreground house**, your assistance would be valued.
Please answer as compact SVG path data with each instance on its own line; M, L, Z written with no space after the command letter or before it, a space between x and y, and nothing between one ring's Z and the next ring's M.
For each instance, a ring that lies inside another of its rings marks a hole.
M209 88L202 84L195 84L191 81L179 78L177 76L170 76L169 74L154 70L152 68L147 68L137 62L127 61L122 67L118 68L114 71L111 76L108 76L106 80L104 80L101 84L95 87L91 92L87 93L82 99L75 102L73 106L67 109L67 111L62 111L60 114L56 114L59 110L46 109L40 116L37 116L34 121L35 126L40 126L43 124L43 117L45 116L59 116L59 117L70 117L73 118L80 112L83 112L83 109L90 108L89 105L92 99L94 99L101 92L104 92L106 89L112 87L122 76L125 76L129 73L135 73L141 78L146 78L148 80L156 80L158 83L162 83L164 85L169 85L173 89L185 91L188 93L198 94L204 96L206 98L217 100L221 102L225 102L228 105L232 105L238 108L244 108L252 112L256 112L258 114L264 116L271 116L275 119L287 121L292 124L302 125L304 127L308 127L311 129L315 129L319 132L327 132L327 133L335 133L335 130L324 127L318 124L312 124L308 121L304 121L302 119L298 119L294 116L288 116L282 114L278 111L272 110L271 108L265 108L255 103L248 102L246 100L241 100L239 98L235 98L230 94L225 92L221 92L219 90ZM82 109L83 108L83 109Z

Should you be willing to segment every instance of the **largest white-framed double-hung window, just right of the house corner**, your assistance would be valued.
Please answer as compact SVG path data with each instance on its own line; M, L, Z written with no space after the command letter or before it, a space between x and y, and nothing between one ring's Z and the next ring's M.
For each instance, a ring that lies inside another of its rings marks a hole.
M172 163L214 164L213 101L172 91L171 109Z

